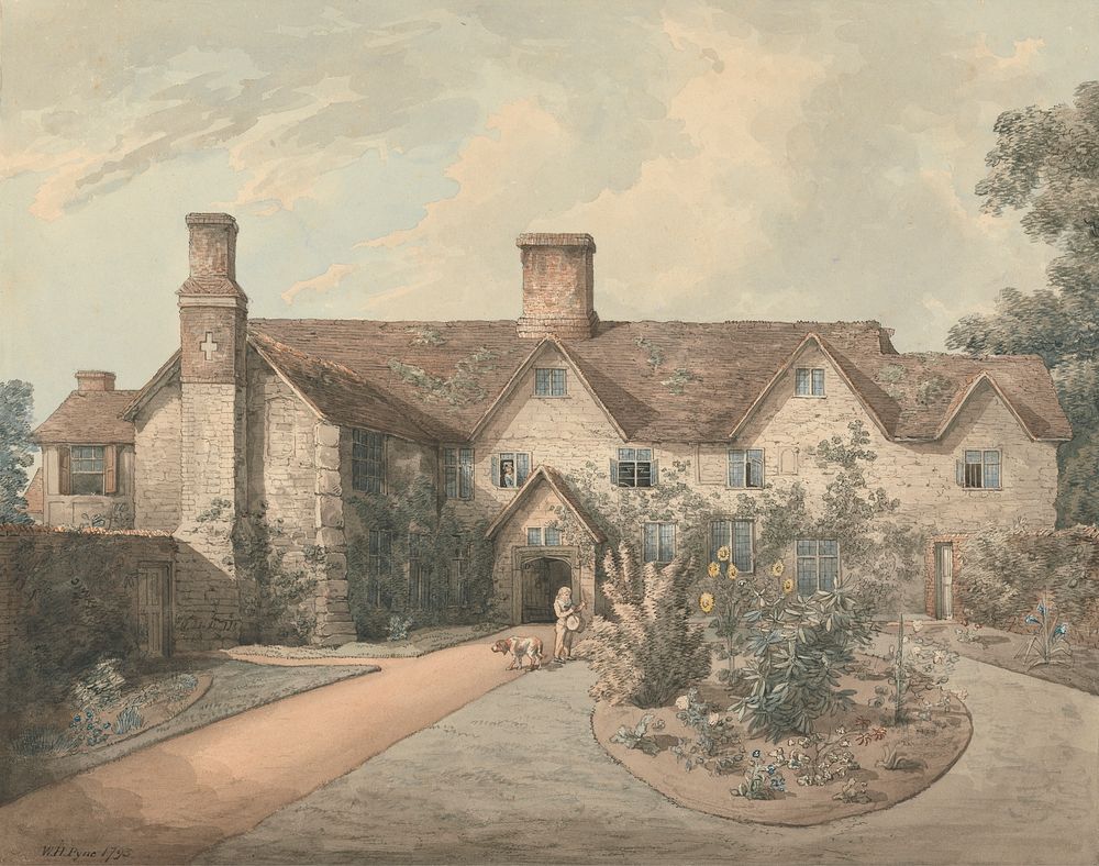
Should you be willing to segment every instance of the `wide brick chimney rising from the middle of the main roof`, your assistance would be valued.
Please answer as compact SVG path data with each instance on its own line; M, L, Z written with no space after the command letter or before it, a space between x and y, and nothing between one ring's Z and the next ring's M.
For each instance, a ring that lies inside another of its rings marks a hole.
M599 325L592 300L596 242L590 234L531 232L515 241L523 263L521 337L588 340Z

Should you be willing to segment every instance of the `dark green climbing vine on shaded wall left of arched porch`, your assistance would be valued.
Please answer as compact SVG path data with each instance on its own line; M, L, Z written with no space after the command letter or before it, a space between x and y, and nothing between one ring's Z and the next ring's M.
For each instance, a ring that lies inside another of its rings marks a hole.
M485 522L460 523L423 477L396 492L363 493L351 506L363 528L347 539L348 601L359 637L384 636L391 613L415 625L491 617L495 555Z

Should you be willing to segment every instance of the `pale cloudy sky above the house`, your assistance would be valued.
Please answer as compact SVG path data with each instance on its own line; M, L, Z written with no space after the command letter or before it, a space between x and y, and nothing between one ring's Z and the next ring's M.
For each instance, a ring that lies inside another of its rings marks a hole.
M136 388L189 211L263 317L514 318L524 231L603 319L879 319L940 349L1050 251L974 196L1095 77L1091 0L0 0L0 379Z

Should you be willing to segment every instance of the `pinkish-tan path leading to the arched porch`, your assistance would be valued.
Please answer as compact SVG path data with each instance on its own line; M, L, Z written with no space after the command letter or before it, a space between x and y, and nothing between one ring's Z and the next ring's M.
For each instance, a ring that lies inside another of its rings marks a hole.
M524 631L551 636L545 626ZM0 808L0 863L185 863L519 676L492 637L381 659L345 680L210 724ZM370 659L362 659L370 662Z

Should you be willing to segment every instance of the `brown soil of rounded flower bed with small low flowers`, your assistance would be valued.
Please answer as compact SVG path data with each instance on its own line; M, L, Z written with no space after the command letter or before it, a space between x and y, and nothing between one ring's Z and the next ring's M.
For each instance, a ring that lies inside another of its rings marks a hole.
M681 806L765 824L819 824L915 796L973 734L962 698L950 692L891 726L888 708L875 706L884 677L859 676L843 678L856 693L853 710L820 719L814 735L778 743L751 737L725 709L740 696L712 681L646 711L600 701L592 731L611 757Z

